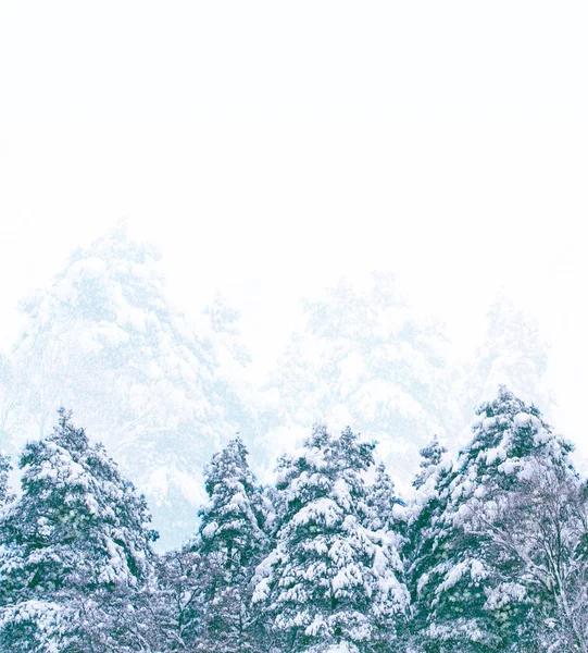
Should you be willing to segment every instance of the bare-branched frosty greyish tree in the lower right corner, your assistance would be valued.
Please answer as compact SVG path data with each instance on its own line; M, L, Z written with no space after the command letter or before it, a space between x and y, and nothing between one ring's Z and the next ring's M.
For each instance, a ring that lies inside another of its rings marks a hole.
M588 652L588 491L563 463L531 459L515 488L495 493L490 514L479 500L471 506L470 531L488 540L508 587L535 600L512 651ZM498 592L490 599L503 601Z

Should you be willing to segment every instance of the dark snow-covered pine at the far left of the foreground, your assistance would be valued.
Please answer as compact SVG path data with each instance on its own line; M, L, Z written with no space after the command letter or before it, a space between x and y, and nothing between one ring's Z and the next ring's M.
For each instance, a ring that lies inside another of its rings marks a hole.
M140 651L130 599L155 537L143 497L63 409L18 465L0 519L0 650Z

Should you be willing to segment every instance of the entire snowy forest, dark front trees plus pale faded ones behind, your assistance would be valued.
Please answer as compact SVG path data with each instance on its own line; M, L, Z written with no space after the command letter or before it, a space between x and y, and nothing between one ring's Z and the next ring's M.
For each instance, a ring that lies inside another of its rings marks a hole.
M588 481L501 297L468 359L391 274L254 380L124 223L0 358L2 653L588 652Z

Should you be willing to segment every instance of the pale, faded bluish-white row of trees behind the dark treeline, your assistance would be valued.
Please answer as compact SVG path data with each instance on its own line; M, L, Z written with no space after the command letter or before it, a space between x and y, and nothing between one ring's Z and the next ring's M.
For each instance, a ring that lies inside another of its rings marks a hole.
M378 441L397 484L410 486L430 435L463 446L476 406L501 383L556 415L549 346L506 296L488 298L479 332L473 300L467 322L460 319L467 336L452 340L393 273L376 271L364 285L341 279L308 300L292 297L292 315L270 303L247 335L222 296L200 310L188 293L191 317L176 307L158 247L124 224L55 272L23 298L20 329L0 342L0 453L16 460L27 441L50 432L60 406L73 408L145 493L159 550L191 534L205 501L201 470L237 432L261 475L315 422L334 432L351 424Z

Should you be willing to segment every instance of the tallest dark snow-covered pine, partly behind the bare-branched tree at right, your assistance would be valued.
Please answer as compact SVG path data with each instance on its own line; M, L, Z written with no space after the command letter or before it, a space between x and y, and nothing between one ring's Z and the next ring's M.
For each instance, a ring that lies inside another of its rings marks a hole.
M522 560L504 555L493 533L500 505L531 470L568 468L570 444L504 386L477 414L472 442L452 469L441 465L430 476L435 488L413 525L422 531L414 626L427 652L523 651L542 600L525 582Z

